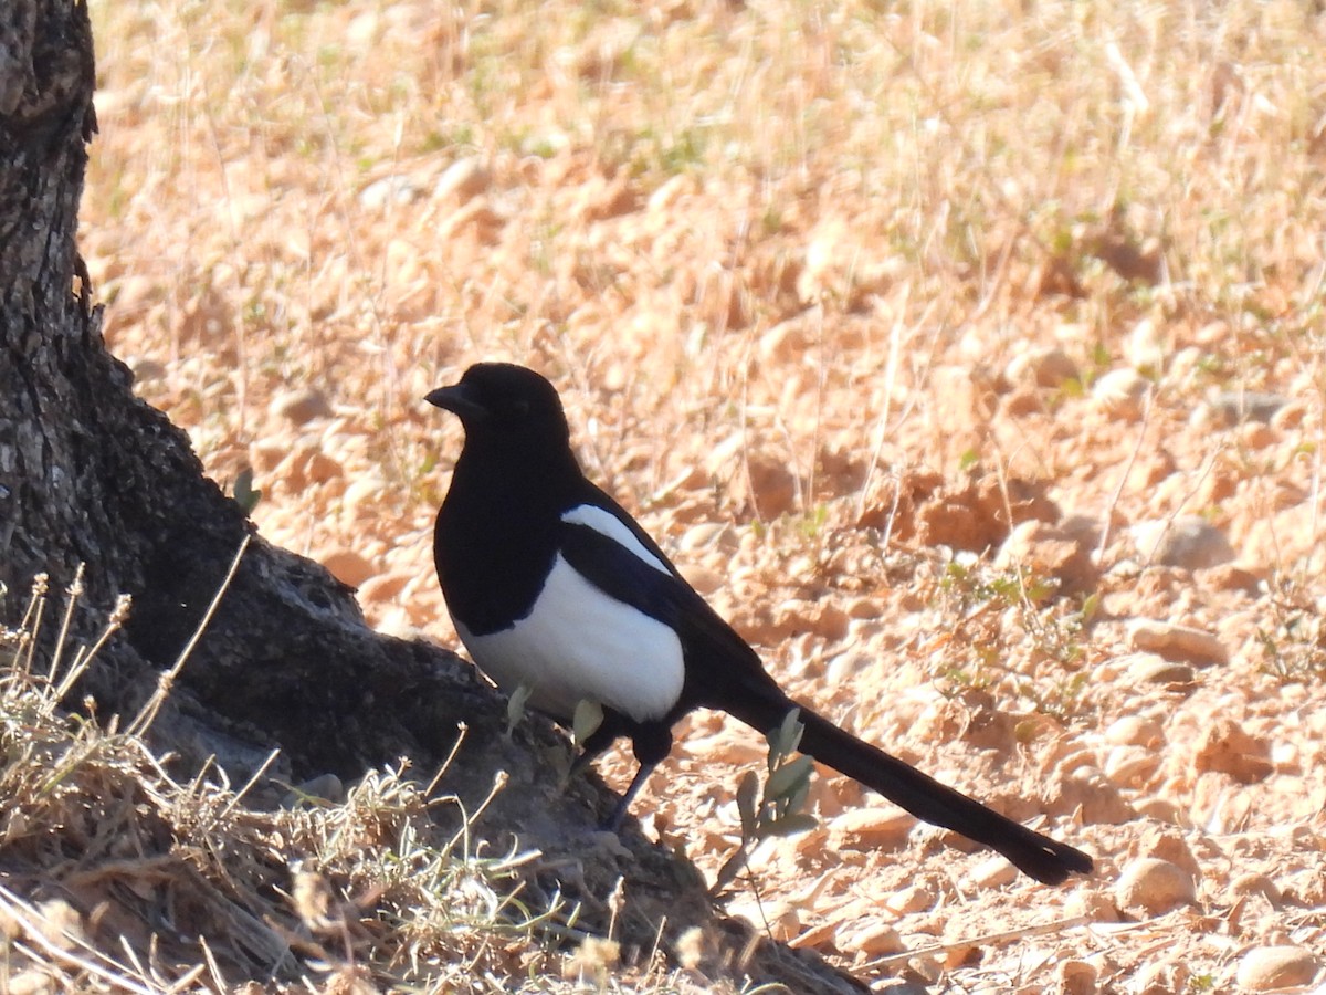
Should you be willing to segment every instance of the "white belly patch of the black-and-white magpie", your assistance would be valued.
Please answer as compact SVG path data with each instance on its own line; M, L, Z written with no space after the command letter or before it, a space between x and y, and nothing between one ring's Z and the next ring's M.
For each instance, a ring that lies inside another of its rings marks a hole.
M569 720L582 700L636 722L663 718L682 695L682 641L663 622L609 597L561 555L534 609L509 629L456 631L475 663L507 693Z

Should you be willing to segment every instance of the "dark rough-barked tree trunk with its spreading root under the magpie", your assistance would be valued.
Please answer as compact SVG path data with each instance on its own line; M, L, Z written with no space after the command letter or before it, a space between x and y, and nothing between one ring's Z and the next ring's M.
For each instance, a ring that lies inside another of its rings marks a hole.
M129 712L198 628L251 525L207 476L188 439L133 394L106 352L101 306L76 245L88 143L95 131L93 46L81 0L7 0L0 15L0 621L23 612L37 573L58 590L86 565L76 629L91 634L117 596L123 634L89 690L99 714ZM420 564L420 569L427 565ZM618 935L648 950L704 926L732 955L741 930L713 917L693 869L627 836L590 832L611 799L590 779L570 791L549 756L565 740L537 719L503 734L503 703L453 655L373 633L353 592L318 565L255 536L154 731L180 763L220 758L241 779L272 747L300 779L411 758L434 767L468 726L444 787L469 811L499 771L512 787L480 829L517 833L549 861L536 888L595 897L626 878ZM575 878L566 868L577 869ZM558 870L561 868L561 870ZM597 906L606 918L606 909ZM756 978L831 991L842 979L766 945Z

